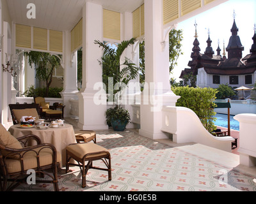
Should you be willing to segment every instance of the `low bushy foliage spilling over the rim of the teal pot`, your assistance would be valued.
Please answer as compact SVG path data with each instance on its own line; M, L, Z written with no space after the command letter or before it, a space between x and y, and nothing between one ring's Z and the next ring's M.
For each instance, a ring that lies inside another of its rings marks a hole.
M131 121L129 111L120 106L109 108L106 112L107 124L110 126L111 120L118 119L120 119L121 122L127 122L128 124Z

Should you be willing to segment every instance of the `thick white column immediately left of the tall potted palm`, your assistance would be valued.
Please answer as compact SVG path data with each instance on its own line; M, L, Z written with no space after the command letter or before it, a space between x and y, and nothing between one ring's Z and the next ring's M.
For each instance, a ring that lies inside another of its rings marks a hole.
M94 86L102 83L102 48L94 40L102 41L102 6L86 2L83 6L83 85L79 96L79 128L108 129L106 124L106 93ZM102 91L101 102L95 96Z

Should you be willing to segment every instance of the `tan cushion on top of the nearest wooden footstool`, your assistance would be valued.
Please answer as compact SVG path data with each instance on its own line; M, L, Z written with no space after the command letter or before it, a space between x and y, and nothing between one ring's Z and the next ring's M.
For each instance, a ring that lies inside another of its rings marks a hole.
M67 151L76 155L79 159L83 159L83 157L88 153L93 153L93 155L86 156L86 159L90 159L93 157L106 156L107 153L101 152L106 151L109 152L108 149L104 147L100 147L95 143L78 143L76 145L68 145ZM98 153L101 152L101 153Z

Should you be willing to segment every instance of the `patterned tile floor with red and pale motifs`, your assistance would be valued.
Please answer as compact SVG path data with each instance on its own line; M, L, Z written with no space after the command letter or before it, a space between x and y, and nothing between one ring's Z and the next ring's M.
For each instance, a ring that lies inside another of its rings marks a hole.
M253 175L212 161L205 154L193 154L186 147L170 147L133 131L102 131L97 133L97 143L110 150L112 180L108 182L106 171L89 170L83 189L79 168L72 167L68 174L63 168L60 191L256 191ZM93 164L104 166L101 161ZM52 190L52 184L22 184L15 189Z

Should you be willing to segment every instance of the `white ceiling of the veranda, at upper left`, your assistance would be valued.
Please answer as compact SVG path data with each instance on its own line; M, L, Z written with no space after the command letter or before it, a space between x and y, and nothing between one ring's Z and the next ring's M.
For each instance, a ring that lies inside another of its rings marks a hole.
M102 4L113 11L136 10L144 0L6 0L10 17L17 24L44 27L57 31L70 31L82 17L82 8L86 1ZM36 18L27 18L27 5L36 6Z

